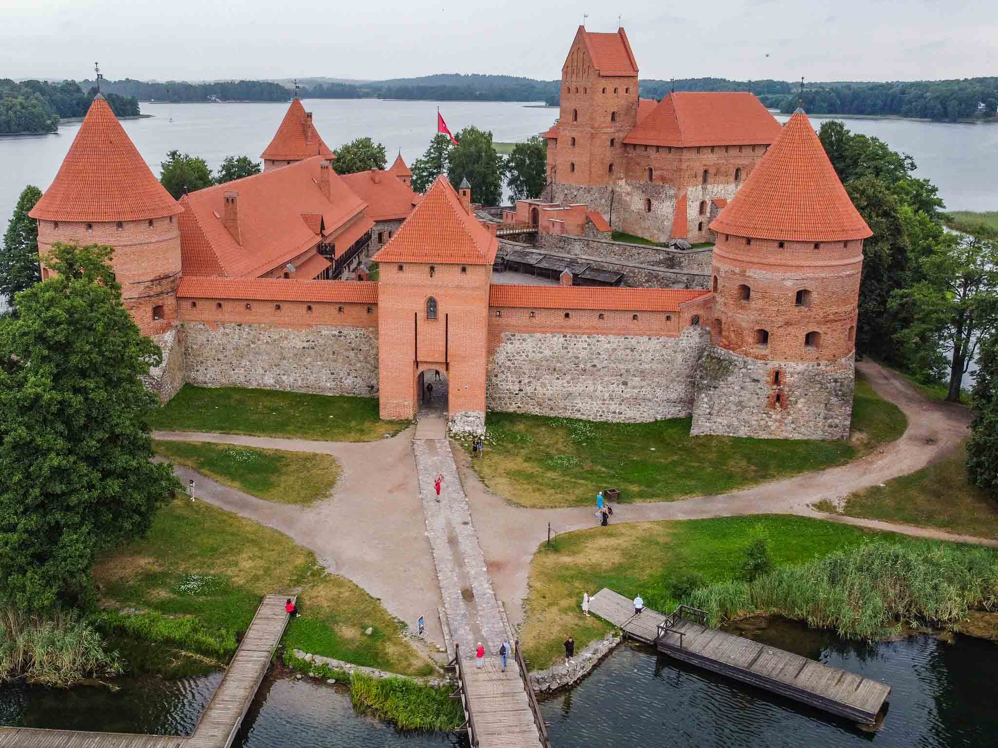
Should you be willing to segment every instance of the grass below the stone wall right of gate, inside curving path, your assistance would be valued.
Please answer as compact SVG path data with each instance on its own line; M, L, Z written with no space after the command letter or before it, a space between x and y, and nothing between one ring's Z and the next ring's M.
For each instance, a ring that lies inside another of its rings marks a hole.
M489 413L482 481L514 504L592 504L615 488L621 502L711 496L847 463L897 439L904 414L856 377L849 442L690 436L690 419L595 423Z

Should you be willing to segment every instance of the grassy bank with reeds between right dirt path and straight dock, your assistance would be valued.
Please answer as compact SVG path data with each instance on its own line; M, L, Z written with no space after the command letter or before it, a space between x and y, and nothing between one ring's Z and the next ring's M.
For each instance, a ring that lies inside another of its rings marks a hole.
M773 570L741 580L745 549L768 540ZM874 543L869 543L874 541ZM756 611L845 635L876 635L897 617L952 623L967 605L998 602L998 553L800 517L754 516L611 525L558 537L531 562L525 655L531 667L578 650L612 626L580 608L583 591L641 593L671 610L708 609L715 624Z

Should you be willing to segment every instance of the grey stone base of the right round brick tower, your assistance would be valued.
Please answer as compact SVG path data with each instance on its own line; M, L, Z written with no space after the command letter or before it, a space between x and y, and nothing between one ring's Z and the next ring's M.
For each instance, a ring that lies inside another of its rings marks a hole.
M711 346L696 370L691 434L848 439L852 354L837 361L759 361Z

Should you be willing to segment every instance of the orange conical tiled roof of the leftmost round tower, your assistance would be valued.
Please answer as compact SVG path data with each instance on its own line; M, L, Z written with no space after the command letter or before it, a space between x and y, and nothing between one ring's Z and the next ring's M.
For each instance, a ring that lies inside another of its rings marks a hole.
M98 96L56 179L29 215L42 220L145 220L183 209L153 176L111 106Z

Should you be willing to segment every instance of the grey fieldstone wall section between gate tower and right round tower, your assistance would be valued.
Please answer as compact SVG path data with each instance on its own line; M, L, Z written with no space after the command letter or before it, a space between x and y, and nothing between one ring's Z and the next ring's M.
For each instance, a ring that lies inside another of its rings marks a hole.
M503 332L489 358L489 410L593 421L689 416L694 369L710 335Z

